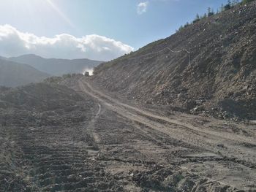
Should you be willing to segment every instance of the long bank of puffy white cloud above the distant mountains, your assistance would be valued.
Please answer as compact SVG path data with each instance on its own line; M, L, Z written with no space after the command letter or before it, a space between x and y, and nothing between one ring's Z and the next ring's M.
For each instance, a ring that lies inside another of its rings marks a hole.
M0 55L36 54L45 58L90 58L108 61L133 50L129 45L97 34L77 38L69 34L37 37L18 29L0 26Z

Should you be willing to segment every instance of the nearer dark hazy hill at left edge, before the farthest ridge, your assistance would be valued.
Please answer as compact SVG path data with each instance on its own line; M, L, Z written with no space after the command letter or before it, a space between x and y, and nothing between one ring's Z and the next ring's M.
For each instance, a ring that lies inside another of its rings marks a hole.
M40 82L50 74L39 72L34 67L0 58L0 86L16 87L31 82Z

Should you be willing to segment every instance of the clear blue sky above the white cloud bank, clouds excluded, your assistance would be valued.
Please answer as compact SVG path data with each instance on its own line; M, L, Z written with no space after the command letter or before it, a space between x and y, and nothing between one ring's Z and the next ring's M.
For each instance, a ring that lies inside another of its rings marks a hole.
M226 0L0 0L0 25L37 37L97 34L137 50ZM140 4L140 10L138 6ZM138 12L140 11L140 12ZM1 32L1 31L0 31ZM1 44L1 42L0 42ZM0 50L1 54L1 50ZM18 54L18 53L17 53ZM114 57L115 55L113 55Z

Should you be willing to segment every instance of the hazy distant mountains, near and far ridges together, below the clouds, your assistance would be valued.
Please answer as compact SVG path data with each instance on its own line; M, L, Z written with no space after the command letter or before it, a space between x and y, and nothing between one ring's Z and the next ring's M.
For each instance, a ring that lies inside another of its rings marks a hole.
M41 82L50 76L82 73L93 69L102 61L82 59L42 58L38 55L0 56L0 86L16 87L31 82Z

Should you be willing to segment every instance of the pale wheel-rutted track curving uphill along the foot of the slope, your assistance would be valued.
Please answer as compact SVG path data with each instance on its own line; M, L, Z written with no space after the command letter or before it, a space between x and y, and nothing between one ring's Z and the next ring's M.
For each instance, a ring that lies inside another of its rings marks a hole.
M241 151L244 150L241 146L238 146L238 141L248 142L255 145L255 139L253 137L246 138L244 136L236 134L219 134L215 131L209 131L206 128L198 128L191 126L187 123L179 122L178 120L173 120L166 118L164 116L154 115L151 112L146 112L140 110L137 107L132 107L128 104L116 101L116 99L101 93L91 87L89 82L83 80L79 81L79 86L82 91L85 91L90 96L98 99L98 101L105 104L110 110L117 112L125 118L134 120L135 122L142 123L145 126L154 128L164 134L167 134L173 139L180 139L183 142L187 142L189 145L195 148L201 148L205 151L211 151L217 156L227 156L228 158L233 158L234 156L238 159L241 158ZM159 123L160 121L160 123ZM164 121L165 123L161 122ZM169 124L169 125L166 125ZM225 147L219 147L219 143L224 143ZM239 148L239 150L238 150ZM249 162L252 166L255 166L253 159L255 159L256 152L253 149L247 149L246 155L251 157ZM243 161L237 161L242 162Z

